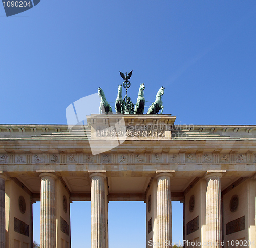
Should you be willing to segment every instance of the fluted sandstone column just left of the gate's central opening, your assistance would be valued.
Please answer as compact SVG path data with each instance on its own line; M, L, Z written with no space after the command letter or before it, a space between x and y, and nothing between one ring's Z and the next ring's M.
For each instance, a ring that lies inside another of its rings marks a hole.
M92 173L91 248L106 248L105 173Z

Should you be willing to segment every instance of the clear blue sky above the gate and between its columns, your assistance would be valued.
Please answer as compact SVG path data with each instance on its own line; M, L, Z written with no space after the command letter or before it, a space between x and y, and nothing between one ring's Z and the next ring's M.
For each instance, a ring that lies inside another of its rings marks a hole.
M254 0L41 0L8 18L0 7L0 123L65 124L66 107L98 87L114 102L119 70L133 69L132 101L140 83L146 101L164 86L164 113L176 123L255 124L255 12ZM114 225L124 207L110 202L111 248L121 247ZM143 247L145 204L128 209L137 215L122 219L122 247ZM90 247L90 203L71 204L71 216L72 247Z

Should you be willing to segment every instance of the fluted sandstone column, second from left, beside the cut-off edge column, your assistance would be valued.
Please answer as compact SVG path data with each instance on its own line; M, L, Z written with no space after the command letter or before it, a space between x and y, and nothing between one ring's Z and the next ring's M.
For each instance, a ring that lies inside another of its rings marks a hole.
M56 247L55 179L52 173L41 173L40 247Z

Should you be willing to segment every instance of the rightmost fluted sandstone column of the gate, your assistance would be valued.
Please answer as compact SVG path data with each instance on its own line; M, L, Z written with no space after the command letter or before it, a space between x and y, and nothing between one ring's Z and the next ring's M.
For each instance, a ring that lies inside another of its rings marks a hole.
M221 173L209 173L206 189L206 242L208 248L221 246Z

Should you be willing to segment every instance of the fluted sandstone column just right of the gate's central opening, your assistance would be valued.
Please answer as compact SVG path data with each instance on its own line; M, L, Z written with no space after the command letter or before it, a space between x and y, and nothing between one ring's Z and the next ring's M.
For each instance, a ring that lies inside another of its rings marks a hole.
M157 178L157 242L160 248L172 241L172 203L170 199L170 173L159 173Z

